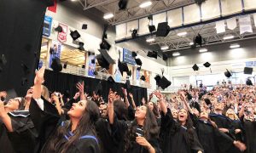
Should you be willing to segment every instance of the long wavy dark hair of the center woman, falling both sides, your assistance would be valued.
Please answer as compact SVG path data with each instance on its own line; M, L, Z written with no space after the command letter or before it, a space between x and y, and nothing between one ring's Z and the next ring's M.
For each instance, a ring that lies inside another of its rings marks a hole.
M159 136L159 127L156 122L156 118L154 116L153 111L151 111L148 106L146 112L146 118L143 123L143 131L145 139L149 140L152 138L158 138ZM128 131L125 133L125 151L132 148L134 144L136 144L136 129L137 129L137 120L135 119L131 122L131 125L128 128Z

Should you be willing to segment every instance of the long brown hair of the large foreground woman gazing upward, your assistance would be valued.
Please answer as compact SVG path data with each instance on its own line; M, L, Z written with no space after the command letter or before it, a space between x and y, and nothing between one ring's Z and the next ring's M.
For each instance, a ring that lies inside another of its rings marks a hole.
M61 139L64 138L64 135L70 130L72 122L67 122L64 126L57 128L53 137L49 140L48 147L50 151L65 153L75 141L79 140L84 134L93 134L96 136L95 122L100 116L100 111L98 106L94 101L87 100L84 113L79 120L77 128L73 132L73 136L69 138L63 148L61 148ZM47 145L46 145L47 146Z

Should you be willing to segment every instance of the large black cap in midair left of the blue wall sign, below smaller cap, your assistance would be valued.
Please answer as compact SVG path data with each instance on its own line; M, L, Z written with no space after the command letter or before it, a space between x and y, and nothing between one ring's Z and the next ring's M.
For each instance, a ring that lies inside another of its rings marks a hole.
M99 49L101 54L96 55L96 59L102 68L109 69L110 64L115 64L114 60L109 56L107 50Z

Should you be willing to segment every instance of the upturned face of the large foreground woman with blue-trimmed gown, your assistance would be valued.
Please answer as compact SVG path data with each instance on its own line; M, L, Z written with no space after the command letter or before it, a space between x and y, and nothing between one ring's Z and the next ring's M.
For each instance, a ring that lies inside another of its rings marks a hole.
M87 101L81 100L78 103L73 103L73 106L67 111L68 116L80 119L83 116Z

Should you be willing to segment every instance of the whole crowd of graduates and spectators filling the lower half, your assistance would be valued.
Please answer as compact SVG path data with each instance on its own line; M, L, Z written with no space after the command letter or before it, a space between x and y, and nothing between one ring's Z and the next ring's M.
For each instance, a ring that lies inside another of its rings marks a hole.
M212 90L156 90L135 101L125 88L108 100L84 93L49 94L44 70L25 97L0 92L0 153L256 152L256 87L224 83ZM148 99L148 100L146 100Z

